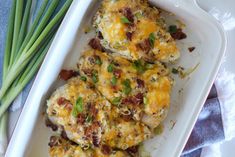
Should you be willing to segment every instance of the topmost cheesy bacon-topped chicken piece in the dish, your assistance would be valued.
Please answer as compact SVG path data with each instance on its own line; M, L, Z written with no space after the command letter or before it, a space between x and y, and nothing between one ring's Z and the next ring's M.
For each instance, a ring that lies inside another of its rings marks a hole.
M180 53L160 19L158 9L147 0L104 0L94 17L101 44L132 60L171 62Z

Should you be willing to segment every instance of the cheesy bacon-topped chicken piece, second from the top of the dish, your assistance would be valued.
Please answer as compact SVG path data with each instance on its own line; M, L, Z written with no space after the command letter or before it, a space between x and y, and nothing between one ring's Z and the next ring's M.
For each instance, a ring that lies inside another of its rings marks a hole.
M90 78L97 90L119 108L120 114L142 120L152 128L166 117L172 81L168 69L161 63L131 62L120 56L88 50L78 66L81 74Z

